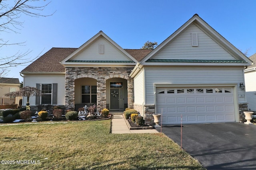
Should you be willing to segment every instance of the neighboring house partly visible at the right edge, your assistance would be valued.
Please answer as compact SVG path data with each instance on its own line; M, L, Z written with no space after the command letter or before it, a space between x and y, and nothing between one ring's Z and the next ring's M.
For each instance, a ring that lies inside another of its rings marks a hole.
M249 57L254 63L256 63L256 53ZM246 101L248 103L248 109L256 111L256 65L248 66L244 70L244 81L246 91Z

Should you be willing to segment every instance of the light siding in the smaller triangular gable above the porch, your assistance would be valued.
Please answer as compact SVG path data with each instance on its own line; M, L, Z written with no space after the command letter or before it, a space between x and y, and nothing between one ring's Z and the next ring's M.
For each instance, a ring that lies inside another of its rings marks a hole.
M104 45L104 54L99 53L99 44ZM90 45L72 60L131 61L103 37L97 39L94 43L92 43L92 45Z

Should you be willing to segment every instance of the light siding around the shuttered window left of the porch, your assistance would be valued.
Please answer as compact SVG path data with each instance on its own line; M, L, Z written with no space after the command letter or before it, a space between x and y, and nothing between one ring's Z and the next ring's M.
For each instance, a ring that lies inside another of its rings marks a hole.
M44 74L44 75L24 75L24 86L36 87L36 84L57 83L57 105L65 105L65 75L64 74ZM22 105L25 105L27 98L23 97ZM30 96L31 106L36 105L36 96Z

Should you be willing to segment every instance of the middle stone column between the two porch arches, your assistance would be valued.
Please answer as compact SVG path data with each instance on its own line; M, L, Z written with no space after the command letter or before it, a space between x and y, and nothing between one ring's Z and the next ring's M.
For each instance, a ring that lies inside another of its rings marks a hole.
M97 110L100 111L104 108L106 108L106 79L104 77L98 77L98 80L97 80Z

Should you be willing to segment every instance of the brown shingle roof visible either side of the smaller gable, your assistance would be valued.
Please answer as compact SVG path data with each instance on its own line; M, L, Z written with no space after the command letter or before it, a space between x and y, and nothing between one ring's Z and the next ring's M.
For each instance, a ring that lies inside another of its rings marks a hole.
M22 72L65 72L65 67L60 61L68 57L77 48L52 48L36 61L28 65ZM152 50L124 49L137 61L142 60Z

